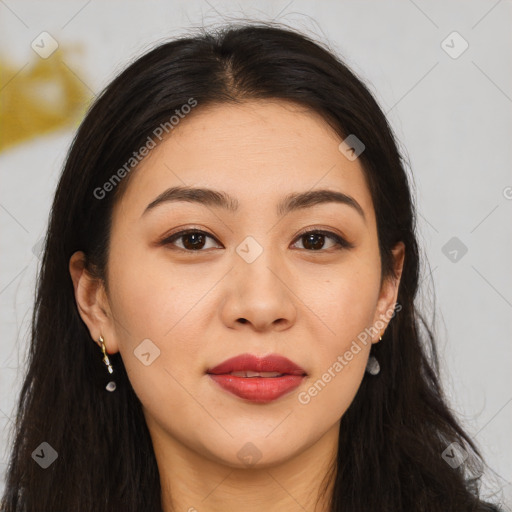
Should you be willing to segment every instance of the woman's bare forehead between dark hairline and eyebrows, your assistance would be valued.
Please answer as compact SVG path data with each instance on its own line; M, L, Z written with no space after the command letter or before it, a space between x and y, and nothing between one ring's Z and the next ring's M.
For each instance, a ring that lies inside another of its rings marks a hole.
M222 190L238 212L266 212L283 195L331 189L354 197L373 218L359 160L338 149L341 138L317 113L286 101L199 104L132 171L121 207L140 217L174 186Z

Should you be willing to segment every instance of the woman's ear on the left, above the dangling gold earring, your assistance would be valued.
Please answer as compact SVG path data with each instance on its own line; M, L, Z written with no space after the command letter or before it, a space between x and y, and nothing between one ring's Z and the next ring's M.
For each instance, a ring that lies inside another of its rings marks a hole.
M114 354L119 352L119 347L105 287L100 279L94 278L86 270L85 261L82 251L75 252L69 260L78 312L92 339L101 347L99 338L103 336L107 353Z

